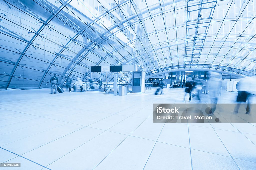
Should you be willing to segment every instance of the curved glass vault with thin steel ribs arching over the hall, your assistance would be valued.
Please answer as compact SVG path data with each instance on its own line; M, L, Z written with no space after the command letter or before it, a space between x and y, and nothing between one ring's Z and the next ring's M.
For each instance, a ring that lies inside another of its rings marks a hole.
M140 65L146 76L177 69L256 74L252 0L0 0L0 6L2 88L49 87L53 74L60 84L67 77L86 81L90 66ZM131 81L131 73L118 81Z

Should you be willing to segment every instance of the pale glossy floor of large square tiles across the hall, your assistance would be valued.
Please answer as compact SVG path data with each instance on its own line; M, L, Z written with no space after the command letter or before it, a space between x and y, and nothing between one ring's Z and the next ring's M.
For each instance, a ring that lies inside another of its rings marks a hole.
M2 90L0 162L25 170L255 169L255 123L153 123L153 103L184 97L184 89L154 91ZM223 90L218 102L233 103L236 95ZM209 102L206 94L202 99Z

